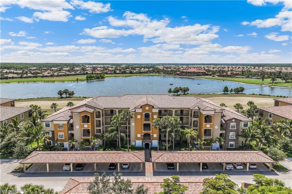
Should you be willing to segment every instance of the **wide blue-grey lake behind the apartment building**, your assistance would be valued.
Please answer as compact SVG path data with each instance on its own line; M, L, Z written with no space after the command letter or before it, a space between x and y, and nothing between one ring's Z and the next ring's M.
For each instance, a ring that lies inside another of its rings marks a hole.
M169 85L172 83L173 85ZM200 85L198 85L198 83ZM36 98L58 96L58 90L69 89L75 96L116 96L122 94L167 94L169 88L189 87L190 93L221 93L225 86L244 87L246 94L292 96L292 89L248 85L235 82L187 77L114 77L100 81L68 83L0 84L1 98Z

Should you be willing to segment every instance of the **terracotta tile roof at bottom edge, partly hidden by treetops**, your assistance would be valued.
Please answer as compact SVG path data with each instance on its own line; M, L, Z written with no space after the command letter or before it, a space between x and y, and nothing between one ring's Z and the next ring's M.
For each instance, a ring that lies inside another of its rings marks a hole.
M136 189L140 185L148 188L148 194L159 193L162 191L160 184L163 179L170 177L122 177L123 179L131 180L132 189ZM203 180L205 177L180 177L181 184L188 187L186 194L199 194L203 190ZM89 194L89 182L93 181L93 177L70 178L60 194Z

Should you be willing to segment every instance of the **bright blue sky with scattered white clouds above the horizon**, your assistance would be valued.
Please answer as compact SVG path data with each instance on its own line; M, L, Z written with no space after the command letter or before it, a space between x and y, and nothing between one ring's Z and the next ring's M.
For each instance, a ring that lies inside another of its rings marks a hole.
M1 1L2 62L291 63L292 1Z

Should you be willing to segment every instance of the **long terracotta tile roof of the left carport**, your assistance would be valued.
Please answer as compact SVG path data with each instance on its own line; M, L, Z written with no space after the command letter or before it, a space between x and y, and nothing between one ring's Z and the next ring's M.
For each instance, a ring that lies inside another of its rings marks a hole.
M34 151L20 163L144 163L144 151Z

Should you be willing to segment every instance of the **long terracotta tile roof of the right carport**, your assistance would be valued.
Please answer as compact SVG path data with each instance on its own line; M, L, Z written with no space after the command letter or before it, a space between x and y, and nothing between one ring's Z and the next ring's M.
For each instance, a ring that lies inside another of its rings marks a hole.
M154 163L274 163L261 151L152 151Z

